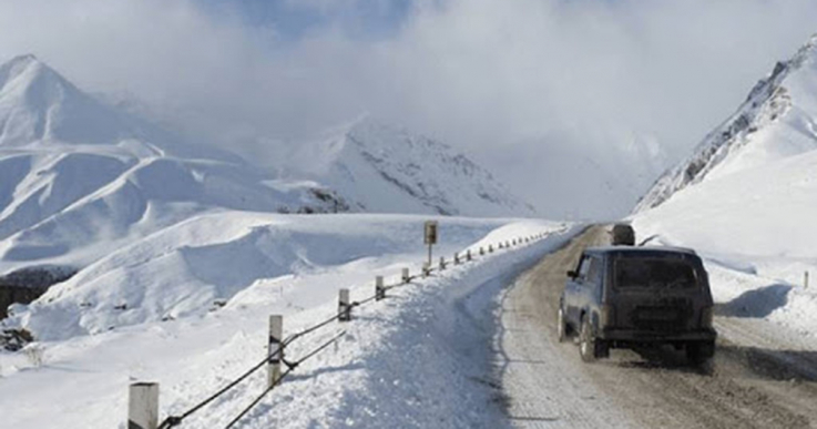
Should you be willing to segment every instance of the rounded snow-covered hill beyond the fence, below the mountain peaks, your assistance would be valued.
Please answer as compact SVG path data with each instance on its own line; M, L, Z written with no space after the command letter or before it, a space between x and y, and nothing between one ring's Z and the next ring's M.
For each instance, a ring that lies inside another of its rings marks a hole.
M102 257L29 306L9 325L57 340L208 311L256 283L308 276L366 258L422 248L425 217L275 215L225 212L193 217ZM452 252L508 221L440 219ZM541 228L541 225L539 226ZM535 229L534 223L509 232ZM232 303L231 303L232 305Z

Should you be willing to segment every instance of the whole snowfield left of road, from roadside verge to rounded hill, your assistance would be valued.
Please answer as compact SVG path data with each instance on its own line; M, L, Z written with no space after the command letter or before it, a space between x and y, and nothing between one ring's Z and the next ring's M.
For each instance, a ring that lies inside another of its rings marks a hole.
M395 284L402 267L417 274L423 219L208 215L122 248L83 270L85 280L21 308L19 320L50 340L35 345L40 367L0 354L3 427L125 428L133 380L161 382L162 417L181 415L263 360L270 314L285 316L288 336L334 315L341 287L361 300L375 275ZM542 233L551 235L478 256L480 246ZM353 321L293 343L290 359L346 333L236 427L508 426L490 378L496 324L483 316L501 287L569 235L544 221L441 218L436 255L450 262L471 248L476 261L389 289L386 300L355 308ZM182 236L187 244L174 247ZM207 311L216 297L226 306ZM122 302L127 309L113 308ZM175 319L157 320L165 314ZM224 427L265 382L261 370L181 427Z

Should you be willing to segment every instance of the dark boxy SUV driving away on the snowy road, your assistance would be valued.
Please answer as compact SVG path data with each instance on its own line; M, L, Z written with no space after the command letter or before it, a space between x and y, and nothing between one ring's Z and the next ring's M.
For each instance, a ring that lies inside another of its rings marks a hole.
M582 254L559 303L559 340L578 334L584 361L611 348L670 344L698 365L715 353L712 293L695 252L595 247Z

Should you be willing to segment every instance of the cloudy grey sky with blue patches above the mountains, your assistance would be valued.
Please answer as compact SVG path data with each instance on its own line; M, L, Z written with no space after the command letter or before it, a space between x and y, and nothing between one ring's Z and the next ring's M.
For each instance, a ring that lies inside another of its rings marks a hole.
M814 0L0 0L0 60L32 52L219 144L368 112L541 207L554 153L677 160L814 32Z

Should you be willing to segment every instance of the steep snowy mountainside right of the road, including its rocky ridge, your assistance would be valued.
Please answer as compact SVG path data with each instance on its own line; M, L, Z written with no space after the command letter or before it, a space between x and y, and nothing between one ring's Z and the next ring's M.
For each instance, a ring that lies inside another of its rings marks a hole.
M640 239L658 235L705 256L726 316L817 338L817 35L658 180L640 208Z

